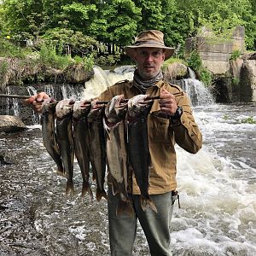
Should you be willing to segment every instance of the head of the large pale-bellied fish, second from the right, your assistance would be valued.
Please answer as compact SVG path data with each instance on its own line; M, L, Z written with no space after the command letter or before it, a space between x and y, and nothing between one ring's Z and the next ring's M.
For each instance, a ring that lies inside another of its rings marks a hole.
M124 95L113 96L105 108L105 115L109 123L118 123L121 119L125 119L127 112L127 102Z

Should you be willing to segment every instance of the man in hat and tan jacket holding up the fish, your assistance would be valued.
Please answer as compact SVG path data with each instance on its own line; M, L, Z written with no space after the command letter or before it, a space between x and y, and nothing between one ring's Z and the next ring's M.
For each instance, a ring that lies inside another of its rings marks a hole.
M141 32L135 44L125 48L127 55L136 61L137 69L133 81L123 81L109 87L99 96L100 100L111 100L123 94L131 98L138 94L160 96L154 101L148 115L148 146L151 158L148 193L154 201L157 212L150 207L143 211L140 203L140 189L134 173L131 173L128 191L134 216L116 215L118 198L108 191L108 223L111 255L131 255L137 233L137 218L142 225L151 255L172 255L170 223L173 203L177 199L175 143L195 154L201 148L201 131L195 124L188 97L182 90L163 79L161 66L174 49L166 47L160 31ZM180 93L181 92L181 93ZM179 94L180 93L180 94ZM175 96L176 95L176 96ZM38 95L38 100L47 98ZM40 108L32 96L30 102ZM143 152L142 152L143 154Z

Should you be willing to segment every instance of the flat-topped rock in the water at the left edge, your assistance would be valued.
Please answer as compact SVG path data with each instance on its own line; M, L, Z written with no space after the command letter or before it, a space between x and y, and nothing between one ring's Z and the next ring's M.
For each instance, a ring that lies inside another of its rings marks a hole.
M0 132L14 132L26 130L26 125L18 116L0 115Z

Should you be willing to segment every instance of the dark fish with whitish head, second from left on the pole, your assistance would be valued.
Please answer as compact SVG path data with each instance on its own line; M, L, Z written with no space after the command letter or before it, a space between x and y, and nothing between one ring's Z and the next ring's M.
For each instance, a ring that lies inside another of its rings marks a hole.
M73 195L73 99L65 99L56 105L56 135L61 152L64 173L67 177L66 195Z

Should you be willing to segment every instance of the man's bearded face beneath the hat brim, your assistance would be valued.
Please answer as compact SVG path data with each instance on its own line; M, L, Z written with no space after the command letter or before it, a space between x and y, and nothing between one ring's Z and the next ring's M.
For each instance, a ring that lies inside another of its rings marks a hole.
M165 53L160 48L137 48L134 60L142 79L153 79L159 72L165 61Z

